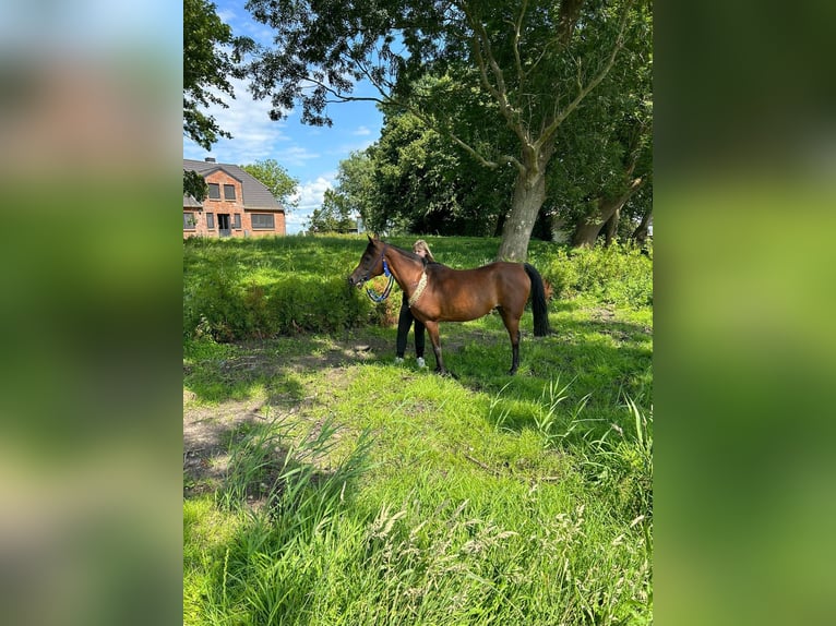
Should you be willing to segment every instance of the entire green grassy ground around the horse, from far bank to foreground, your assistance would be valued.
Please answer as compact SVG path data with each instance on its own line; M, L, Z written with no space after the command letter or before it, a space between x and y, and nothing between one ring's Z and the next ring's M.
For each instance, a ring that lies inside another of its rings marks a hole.
M428 241L456 267L497 246ZM397 289L343 289L363 248L184 244L183 622L652 622L650 261L532 242L554 334L526 312L510 377L498 315L442 324L449 378L411 335L394 363Z

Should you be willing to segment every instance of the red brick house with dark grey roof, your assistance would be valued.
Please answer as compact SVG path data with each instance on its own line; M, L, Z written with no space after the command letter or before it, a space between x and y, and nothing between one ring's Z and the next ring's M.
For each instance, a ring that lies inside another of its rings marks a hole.
M183 159L183 169L196 171L208 185L202 203L183 195L183 239L286 234L284 207L237 165Z

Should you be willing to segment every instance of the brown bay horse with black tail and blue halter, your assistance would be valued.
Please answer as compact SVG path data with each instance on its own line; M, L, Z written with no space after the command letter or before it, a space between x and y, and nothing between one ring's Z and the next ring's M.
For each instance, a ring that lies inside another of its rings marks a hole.
M441 357L439 322L467 322L497 309L511 337L511 370L519 366L519 320L532 293L534 334L549 334L549 316L542 278L527 263L495 262L475 269L453 269L369 237L369 244L348 282L363 282L391 273L409 299L409 309L430 333L435 371L445 374Z

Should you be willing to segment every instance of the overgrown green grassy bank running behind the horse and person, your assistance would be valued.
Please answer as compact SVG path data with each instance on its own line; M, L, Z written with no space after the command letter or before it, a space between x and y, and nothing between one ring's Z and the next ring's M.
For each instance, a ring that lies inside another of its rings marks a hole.
M495 239L426 238L433 255L451 267L477 267L495 253ZM410 249L415 238L393 237ZM232 341L333 333L397 318L399 290L375 304L346 277L365 238L297 237L183 242L183 336ZM568 250L533 242L532 262L559 300L587 299L629 309L653 303L653 262L638 250ZM371 282L383 290L383 279Z

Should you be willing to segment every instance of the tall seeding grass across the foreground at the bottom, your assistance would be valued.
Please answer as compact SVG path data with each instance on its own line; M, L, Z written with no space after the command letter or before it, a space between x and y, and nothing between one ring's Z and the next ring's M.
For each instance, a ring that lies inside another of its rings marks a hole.
M380 442L341 435L331 420L234 433L217 508L184 506L186 624L652 622L650 519L613 525L596 503L611 504L621 477L587 479L589 502L572 502L545 482L447 465L456 485L416 469L395 479L415 486L372 504L362 492ZM613 456L600 444L578 462Z

